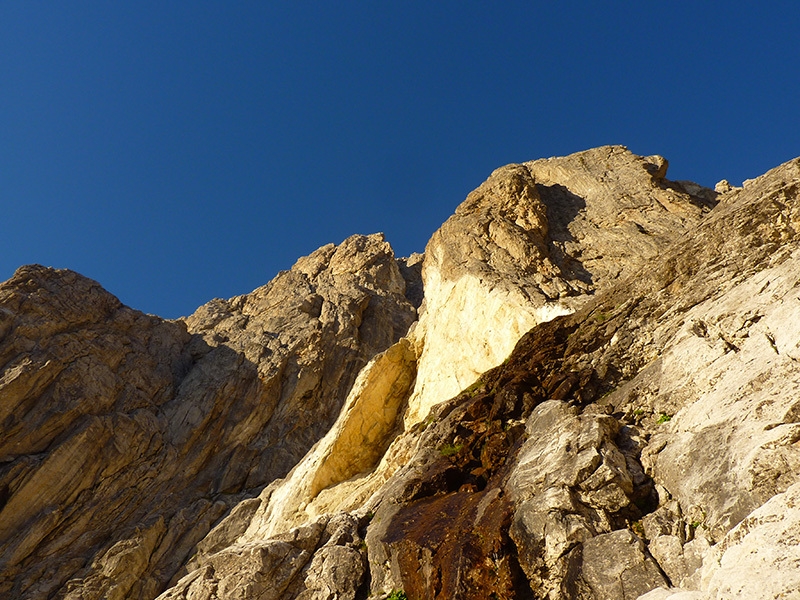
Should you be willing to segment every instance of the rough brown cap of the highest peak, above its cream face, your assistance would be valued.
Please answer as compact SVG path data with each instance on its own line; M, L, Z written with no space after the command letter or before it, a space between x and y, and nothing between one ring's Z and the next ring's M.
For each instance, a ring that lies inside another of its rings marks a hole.
M426 254L445 277L472 272L527 284L534 301L585 293L635 269L714 205L713 191L671 182L666 171L664 158L622 146L501 167Z

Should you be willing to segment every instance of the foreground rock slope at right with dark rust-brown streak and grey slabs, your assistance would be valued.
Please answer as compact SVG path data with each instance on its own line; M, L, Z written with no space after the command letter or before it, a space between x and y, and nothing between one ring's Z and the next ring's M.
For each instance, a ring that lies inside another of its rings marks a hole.
M534 327L503 365L395 441L387 456L408 459L356 511L374 513L365 536L373 595L636 598L680 584L686 597L705 597L721 540L798 472L795 395L770 387L773 378L789 390L800 380L800 305L788 295L800 272L798 161L746 190L639 263L647 270L623 273L576 313ZM738 338L710 330L725 323L712 315L731 312L741 315ZM776 322L769 336L754 335L778 315L782 329ZM681 351L686 343L691 351ZM727 369L738 383L714 396ZM736 443L681 436L682 410L695 404L705 411L695 421ZM723 409L726 424L714 420ZM677 458L665 454L670 444ZM762 476L775 456L786 468ZM791 519L781 527L776 539L793 539ZM758 560L794 564L782 544ZM722 589L732 573L718 577ZM795 589L789 575L772 584L764 589Z

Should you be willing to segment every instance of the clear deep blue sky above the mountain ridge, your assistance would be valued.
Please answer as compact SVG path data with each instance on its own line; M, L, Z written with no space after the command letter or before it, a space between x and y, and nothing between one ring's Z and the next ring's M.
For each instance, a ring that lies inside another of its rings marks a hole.
M795 2L0 4L0 280L165 317L602 144L713 186L800 154Z

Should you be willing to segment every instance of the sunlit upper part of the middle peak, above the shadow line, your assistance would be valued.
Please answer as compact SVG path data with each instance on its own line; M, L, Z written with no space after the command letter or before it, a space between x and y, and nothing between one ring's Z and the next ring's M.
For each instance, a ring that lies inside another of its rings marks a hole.
M365 346L363 360L396 342L416 319L398 262L383 234L354 235L298 259L250 294L201 306L185 321L209 344L222 340L256 364L266 360L264 368L281 348L299 349L305 337L327 344L328 333L356 337ZM307 362L320 352L303 351Z

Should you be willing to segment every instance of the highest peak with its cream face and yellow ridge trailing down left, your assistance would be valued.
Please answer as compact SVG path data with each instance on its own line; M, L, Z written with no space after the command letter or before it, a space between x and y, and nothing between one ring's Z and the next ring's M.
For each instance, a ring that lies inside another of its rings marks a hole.
M265 490L257 509L246 517L231 517L223 528L237 532L229 538L230 543L257 543L293 526L303 526L331 510L355 510L363 505L370 496L380 493L378 486L402 468L413 450L398 441L380 461L371 452L353 456L357 444L352 442L354 436L347 433L352 429L349 423L358 423L356 430L368 431L376 440L384 439L396 429L393 419L398 406L402 406L402 394L408 393L409 382L415 382L404 417L406 429L412 428L436 404L457 394L482 371L506 358L531 327L587 302L596 289L591 273L566 254L569 251L579 255L582 247L580 243L562 244L572 239L569 227L576 219L582 218L584 226L594 227L592 219L602 223L606 218L625 227L620 216L623 211L627 218L643 223L653 221L666 226L673 222L673 236L677 239L707 212L708 203L683 188L673 186L677 191L664 191L659 187L668 183L663 179L663 159L645 160L620 148L600 150L594 158L588 152L576 155L577 159L563 159L577 160L578 165L562 169L563 185L540 186L527 165L510 165L495 171L468 196L427 245L422 270L422 317L408 342L402 341L376 356L365 368L334 427L284 481ZM586 182L600 180L605 173L605 169L598 171L595 166L598 160L616 160L622 170L629 172L602 193L593 192ZM565 191L567 185L590 201ZM614 204L613 195L621 190L645 197L606 206ZM671 203L673 211L680 215L661 214L669 213L664 203ZM587 209L587 204L597 206ZM606 235L618 235L611 226L607 229ZM636 231L643 238L648 236L643 230ZM589 237L604 240L603 233ZM669 236L664 233L655 241L649 240L641 251L662 248L668 242ZM634 246L626 265L645 260L646 256L635 252ZM598 258L593 268L602 264ZM620 271L618 267L614 277L605 277L604 272L603 282L609 285ZM385 399L382 411L375 408L379 389ZM342 464L349 467L332 468Z

